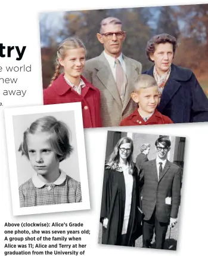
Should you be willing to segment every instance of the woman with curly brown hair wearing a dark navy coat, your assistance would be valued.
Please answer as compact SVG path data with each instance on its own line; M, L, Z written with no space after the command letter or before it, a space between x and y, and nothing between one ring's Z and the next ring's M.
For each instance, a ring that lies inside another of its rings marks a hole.
M173 123L208 121L208 99L190 69L172 64L175 51L176 39L166 33L147 42L146 54L154 66L144 74L154 77L159 86L157 109Z

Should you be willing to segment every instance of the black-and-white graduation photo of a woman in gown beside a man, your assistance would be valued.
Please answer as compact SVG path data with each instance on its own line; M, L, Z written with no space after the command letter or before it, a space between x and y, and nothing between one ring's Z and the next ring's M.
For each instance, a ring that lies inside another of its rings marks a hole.
M98 243L176 250L185 138L108 131Z

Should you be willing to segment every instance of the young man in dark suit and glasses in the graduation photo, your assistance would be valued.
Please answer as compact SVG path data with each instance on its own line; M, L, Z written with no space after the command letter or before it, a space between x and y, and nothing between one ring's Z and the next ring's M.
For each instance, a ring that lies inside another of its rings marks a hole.
M167 160L170 140L160 136L156 143L157 157L141 166L142 211L144 212L143 247L151 248L156 234L156 249L163 249L167 227L177 223L181 200L181 169Z

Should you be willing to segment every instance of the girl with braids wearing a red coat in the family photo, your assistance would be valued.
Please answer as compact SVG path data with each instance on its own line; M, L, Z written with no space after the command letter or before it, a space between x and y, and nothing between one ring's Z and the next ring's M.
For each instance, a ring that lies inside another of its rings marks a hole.
M83 127L101 127L100 91L81 75L85 55L85 45L78 38L67 38L59 45L55 74L44 90L44 105L81 102Z

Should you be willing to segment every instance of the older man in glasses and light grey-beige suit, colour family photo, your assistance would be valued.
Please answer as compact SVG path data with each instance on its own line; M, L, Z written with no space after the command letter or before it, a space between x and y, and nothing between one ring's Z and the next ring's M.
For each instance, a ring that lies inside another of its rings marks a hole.
M131 93L142 65L122 54L126 32L122 31L119 19L102 20L97 38L104 45L104 51L86 62L83 76L101 92L103 126L119 126L120 121L137 108Z

